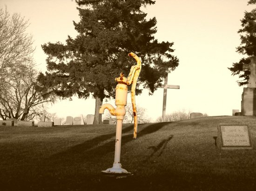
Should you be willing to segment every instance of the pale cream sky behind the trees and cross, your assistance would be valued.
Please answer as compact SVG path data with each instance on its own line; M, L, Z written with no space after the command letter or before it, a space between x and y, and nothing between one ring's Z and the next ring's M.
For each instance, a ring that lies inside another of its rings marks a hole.
M166 113L185 110L206 113L209 116L232 115L232 109L241 111L243 87L238 76L231 76L228 67L243 55L236 52L240 45L240 20L248 0L156 0L155 5L143 8L147 18L156 17L159 42L174 42L174 55L179 66L168 75L168 84L180 89L168 89ZM60 41L65 44L67 35L76 36L73 21L80 20L74 0L0 0L9 13L20 13L29 19L27 29L34 37L34 60L38 69L46 71L47 55L41 45ZM139 51L139 50L137 50ZM142 63L143 64L143 63ZM143 67L143 65L142 65ZM115 79L113 79L115 80ZM246 86L245 86L246 87ZM153 96L148 89L136 96L136 104L146 109L152 121L162 116L163 89ZM130 101L128 94L128 102ZM103 103L115 106L115 100ZM59 100L49 105L48 111L59 117L94 114L95 101L78 99ZM107 111L105 111L106 113Z

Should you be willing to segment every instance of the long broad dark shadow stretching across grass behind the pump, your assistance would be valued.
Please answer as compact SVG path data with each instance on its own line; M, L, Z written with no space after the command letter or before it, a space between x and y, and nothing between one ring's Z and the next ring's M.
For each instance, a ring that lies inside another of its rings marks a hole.
M144 127L141 131L138 132L138 139L147 134L152 134L162 127L164 127L169 122L156 123ZM143 124L139 124L139 127L143 127ZM140 129L140 128L138 128ZM133 140L132 132L133 125L124 128L123 133L127 133L131 131L131 134L127 134L122 136L121 145L125 145L126 143ZM113 139L111 139L113 138ZM171 139L168 138L169 140ZM168 141L168 140L165 140ZM103 143L102 143L103 142ZM165 146L166 143L160 143L160 147ZM113 134L105 134L98 136L92 140L87 140L79 145L73 146L63 152L56 153L51 155L49 159L47 159L48 165L54 165L60 163L62 165L72 165L74 163L95 163L95 161L104 161L104 156L110 152L115 151L115 133ZM161 153L162 154L162 153Z

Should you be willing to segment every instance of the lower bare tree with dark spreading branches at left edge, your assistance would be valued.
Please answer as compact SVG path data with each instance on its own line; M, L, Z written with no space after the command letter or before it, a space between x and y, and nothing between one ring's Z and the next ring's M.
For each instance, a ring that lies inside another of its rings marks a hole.
M13 69L13 75L5 79L0 91L0 118L33 119L41 115L43 103L54 102L54 96L37 89L37 76L38 72L27 65Z

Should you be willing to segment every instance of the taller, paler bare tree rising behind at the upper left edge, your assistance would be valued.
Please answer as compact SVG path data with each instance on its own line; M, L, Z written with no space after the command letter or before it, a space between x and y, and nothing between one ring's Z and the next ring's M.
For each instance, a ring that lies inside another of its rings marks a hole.
M0 89L12 70L20 64L33 64L33 38L26 33L29 23L20 14L12 16L0 8Z

